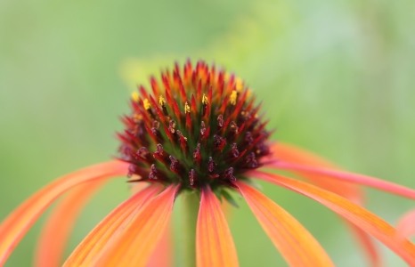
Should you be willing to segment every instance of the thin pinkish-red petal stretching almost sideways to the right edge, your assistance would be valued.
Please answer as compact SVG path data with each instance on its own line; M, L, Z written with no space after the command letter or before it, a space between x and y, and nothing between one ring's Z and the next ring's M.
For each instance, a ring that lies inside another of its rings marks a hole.
M411 190L407 187L402 185L396 184L394 182L387 182L377 178L373 178L367 175L362 174L352 174L343 171L337 170L330 170L324 168L315 168L310 166L300 166L296 164L290 164L286 162L278 162L271 165L278 169L286 169L286 170L300 170L302 172L312 173L312 174L321 174L327 177L331 177L340 181L346 182L354 182L357 184L362 184L366 186L370 186L372 188L376 188L378 190L384 190L392 194L396 194L398 196L402 196L405 198L415 199L415 190Z

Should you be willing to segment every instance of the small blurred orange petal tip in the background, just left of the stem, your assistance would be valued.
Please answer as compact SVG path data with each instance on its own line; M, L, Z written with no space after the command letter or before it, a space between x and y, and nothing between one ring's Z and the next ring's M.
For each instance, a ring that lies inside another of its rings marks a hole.
M172 233L171 225L167 224L166 231L164 231L163 236L159 240L159 244L154 249L152 255L150 256L149 262L146 264L146 267L170 267L174 265L173 251L172 251Z

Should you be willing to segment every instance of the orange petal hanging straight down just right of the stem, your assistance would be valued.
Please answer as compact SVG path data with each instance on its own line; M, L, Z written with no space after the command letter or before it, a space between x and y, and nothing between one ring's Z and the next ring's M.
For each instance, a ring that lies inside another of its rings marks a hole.
M231 231L210 187L204 188L201 193L196 261L198 267L239 266Z

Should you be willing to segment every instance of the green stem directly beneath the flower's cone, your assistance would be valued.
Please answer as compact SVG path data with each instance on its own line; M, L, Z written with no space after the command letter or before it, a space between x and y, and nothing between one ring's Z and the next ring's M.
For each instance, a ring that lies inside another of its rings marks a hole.
M199 195L189 194L183 198L183 266L196 266L196 224L199 213Z

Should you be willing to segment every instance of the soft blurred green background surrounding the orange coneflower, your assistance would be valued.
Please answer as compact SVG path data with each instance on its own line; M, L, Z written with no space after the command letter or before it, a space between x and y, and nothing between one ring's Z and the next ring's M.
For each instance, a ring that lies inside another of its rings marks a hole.
M274 138L415 188L414 23L411 0L2 0L0 220L55 177L115 155L118 116L134 85L187 57L243 77L278 127ZM338 266L365 265L328 209L275 186L264 192ZM415 206L368 193L369 209L389 223ZM123 179L110 182L86 207L69 248L127 196ZM40 225L6 266L32 263ZM242 199L231 228L241 266L285 266ZM387 266L405 266L383 251Z

